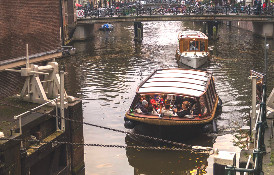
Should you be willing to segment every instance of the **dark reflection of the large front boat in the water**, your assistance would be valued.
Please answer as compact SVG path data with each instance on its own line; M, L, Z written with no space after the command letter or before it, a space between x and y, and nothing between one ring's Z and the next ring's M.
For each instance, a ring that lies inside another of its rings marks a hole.
M189 142L190 145L212 147L214 137L201 137L196 141ZM125 137L128 146L144 146L143 143ZM152 145L153 146L153 145ZM182 148L173 146L173 148ZM184 148L184 147L183 147ZM191 153L190 151L167 151L126 148L129 165L134 167L134 175L140 174L205 174L208 166L209 155L203 153Z

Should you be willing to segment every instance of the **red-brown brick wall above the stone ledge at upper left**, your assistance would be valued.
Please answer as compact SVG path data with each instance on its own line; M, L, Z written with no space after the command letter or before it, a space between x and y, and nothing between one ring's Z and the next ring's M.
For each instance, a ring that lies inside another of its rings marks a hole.
M56 0L1 0L0 61L54 50L60 43Z

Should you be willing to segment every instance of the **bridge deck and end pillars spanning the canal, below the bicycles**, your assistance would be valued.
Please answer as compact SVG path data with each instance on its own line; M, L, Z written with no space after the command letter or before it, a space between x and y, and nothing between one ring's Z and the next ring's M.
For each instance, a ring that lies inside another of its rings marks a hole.
M274 16L268 15L141 15L141 16L115 16L115 17L94 17L77 19L75 40L86 40L94 36L94 24L115 23L115 22L145 22L145 21L207 21L208 27L212 22L217 21L250 21L252 22L252 34L267 38L274 38ZM218 27L217 27L218 28ZM212 31L212 29L211 29Z

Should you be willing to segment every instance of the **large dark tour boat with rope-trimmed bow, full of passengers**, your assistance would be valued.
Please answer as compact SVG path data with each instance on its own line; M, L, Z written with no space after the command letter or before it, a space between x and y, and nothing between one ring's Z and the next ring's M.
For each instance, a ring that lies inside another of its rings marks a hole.
M156 106L154 114L140 112L140 108L136 106L140 102L138 97L143 97L149 105ZM163 109L164 105L170 105L170 111L174 111L175 105L182 105L183 101L190 103L192 115L179 118L175 112L171 116L162 113L162 110L166 110ZM158 69L137 87L133 102L125 114L124 126L134 129L138 134L161 139L191 139L203 133L218 132L213 118L221 105L212 72Z

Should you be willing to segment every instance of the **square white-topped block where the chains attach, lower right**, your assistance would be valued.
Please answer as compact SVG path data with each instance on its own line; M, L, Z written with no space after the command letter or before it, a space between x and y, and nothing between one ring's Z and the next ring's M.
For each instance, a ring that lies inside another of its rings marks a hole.
M236 167L236 153L228 151L218 151L215 149L213 158L213 175L225 174L225 167ZM232 172L231 174L236 174Z

